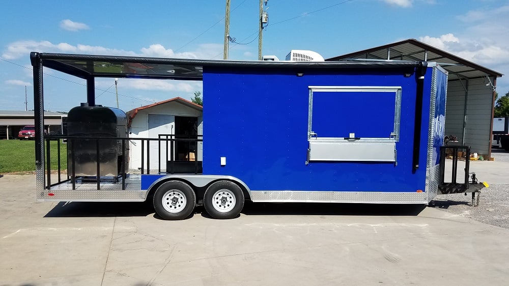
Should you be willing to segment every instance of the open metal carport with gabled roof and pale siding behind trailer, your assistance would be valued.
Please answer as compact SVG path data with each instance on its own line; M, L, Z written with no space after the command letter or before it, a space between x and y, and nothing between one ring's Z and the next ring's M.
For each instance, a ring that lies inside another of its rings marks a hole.
M449 72L445 134L491 157L497 77L503 74L415 39L335 56L326 61L428 61Z

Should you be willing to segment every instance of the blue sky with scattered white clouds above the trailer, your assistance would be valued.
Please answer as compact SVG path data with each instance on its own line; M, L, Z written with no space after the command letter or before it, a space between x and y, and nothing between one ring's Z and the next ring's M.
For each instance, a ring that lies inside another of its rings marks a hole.
M0 17L0 110L34 108L30 52L223 58L225 0L14 1ZM416 39L506 74L509 0L268 0L263 54L284 60L292 49L325 59ZM258 59L258 0L231 0L230 60ZM85 81L45 68L44 108L85 102ZM124 111L174 97L190 99L200 81L124 79ZM207 95L204 95L207 102ZM116 107L114 78L96 79L96 104ZM206 104L206 103L205 103Z

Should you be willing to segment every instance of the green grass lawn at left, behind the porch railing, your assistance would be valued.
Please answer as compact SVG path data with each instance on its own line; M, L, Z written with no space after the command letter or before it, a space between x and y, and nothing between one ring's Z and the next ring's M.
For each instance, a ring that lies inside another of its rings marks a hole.
M51 141L51 169L58 169L57 141ZM67 144L60 142L61 169L67 170ZM46 154L44 155L46 157ZM35 171L34 140L0 140L0 174Z

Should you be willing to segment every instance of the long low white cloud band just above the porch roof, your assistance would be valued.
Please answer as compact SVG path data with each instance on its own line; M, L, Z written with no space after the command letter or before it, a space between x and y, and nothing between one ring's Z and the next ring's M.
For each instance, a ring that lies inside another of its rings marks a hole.
M17 41L11 43L4 50L2 57L7 60L19 59L27 56L31 51L38 52L64 52L103 55L128 55L128 56L151 56L155 58L187 58L187 59L211 59L222 50L221 44L202 44L195 51L174 52L161 44L153 44L143 47L140 52L122 49L107 48L90 45L71 45L68 43L53 44L49 41Z

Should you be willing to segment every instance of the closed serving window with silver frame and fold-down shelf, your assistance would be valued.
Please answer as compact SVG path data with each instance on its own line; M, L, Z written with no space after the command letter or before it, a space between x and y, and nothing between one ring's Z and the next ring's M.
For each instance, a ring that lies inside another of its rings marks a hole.
M309 87L309 161L396 161L401 87Z

